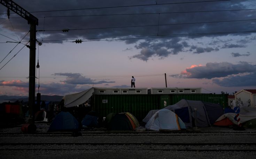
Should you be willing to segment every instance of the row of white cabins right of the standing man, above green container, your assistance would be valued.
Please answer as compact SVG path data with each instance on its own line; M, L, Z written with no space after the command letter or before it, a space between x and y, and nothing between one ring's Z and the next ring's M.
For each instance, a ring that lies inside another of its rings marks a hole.
M194 88L181 88L181 87L168 87L168 88L151 88L148 94L201 94L201 87Z

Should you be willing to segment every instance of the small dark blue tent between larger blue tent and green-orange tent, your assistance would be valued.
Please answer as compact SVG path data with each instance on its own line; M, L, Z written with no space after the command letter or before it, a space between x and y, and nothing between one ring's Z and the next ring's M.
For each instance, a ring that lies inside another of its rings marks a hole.
M98 118L99 115L96 112L91 111L83 118L82 125L87 127L96 127L98 126Z

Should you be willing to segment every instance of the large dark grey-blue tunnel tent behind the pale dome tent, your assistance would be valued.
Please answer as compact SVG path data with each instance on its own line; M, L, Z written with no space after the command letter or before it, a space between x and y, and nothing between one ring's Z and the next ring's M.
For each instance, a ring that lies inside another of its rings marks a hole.
M180 117L187 127L195 126L195 108L196 110L196 126L207 127L214 124L214 122L223 115L223 108L219 104L208 103L197 100L181 99L174 105L166 106L163 109L168 109ZM152 114L152 112L149 112ZM148 114L143 121L147 121L151 115Z

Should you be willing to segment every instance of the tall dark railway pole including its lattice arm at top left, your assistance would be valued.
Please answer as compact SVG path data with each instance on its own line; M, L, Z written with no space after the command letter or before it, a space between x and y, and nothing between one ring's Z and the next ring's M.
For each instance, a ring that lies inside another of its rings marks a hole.
M36 87L36 25L38 19L12 0L0 0L0 3L28 20L30 25L29 46L29 123L34 123L35 87Z

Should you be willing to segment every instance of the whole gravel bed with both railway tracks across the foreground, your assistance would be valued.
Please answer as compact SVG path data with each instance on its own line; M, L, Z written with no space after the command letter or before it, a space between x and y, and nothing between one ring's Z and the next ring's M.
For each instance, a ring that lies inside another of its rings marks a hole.
M255 158L255 131L0 133L3 158Z

